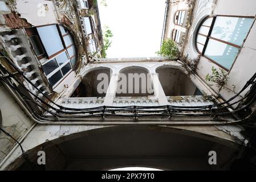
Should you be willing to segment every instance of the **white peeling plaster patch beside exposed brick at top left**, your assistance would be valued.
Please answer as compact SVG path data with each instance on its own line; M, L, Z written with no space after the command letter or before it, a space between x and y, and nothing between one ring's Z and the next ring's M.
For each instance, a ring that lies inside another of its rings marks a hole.
M21 18L25 18L32 26L58 23L57 15L52 1L46 0L18 0L17 11ZM45 12L45 16L43 13Z

